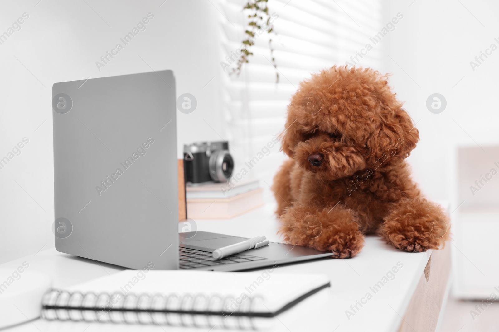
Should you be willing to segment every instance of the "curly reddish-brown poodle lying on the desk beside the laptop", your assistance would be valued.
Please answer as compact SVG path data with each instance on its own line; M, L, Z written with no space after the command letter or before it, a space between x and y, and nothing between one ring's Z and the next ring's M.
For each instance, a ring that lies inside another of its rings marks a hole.
M301 82L280 139L291 159L272 189L286 242L348 258L368 233L407 251L449 238L447 215L410 177L419 134L386 76L334 66Z

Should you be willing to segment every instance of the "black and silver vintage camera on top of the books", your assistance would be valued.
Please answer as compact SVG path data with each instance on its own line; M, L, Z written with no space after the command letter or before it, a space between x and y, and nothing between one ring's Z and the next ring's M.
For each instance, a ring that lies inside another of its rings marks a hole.
M184 145L186 182L227 182L234 170L228 142L198 142Z

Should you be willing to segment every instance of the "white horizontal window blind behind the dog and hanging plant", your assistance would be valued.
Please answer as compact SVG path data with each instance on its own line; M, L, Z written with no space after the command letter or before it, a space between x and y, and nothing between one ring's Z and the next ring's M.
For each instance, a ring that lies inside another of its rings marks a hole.
M218 2L223 15L223 57L230 57L241 48L250 13L243 11L246 2ZM253 55L249 57L250 62L243 65L239 77L229 75L236 68L236 61L224 59L230 67L224 72L222 87L223 111L229 128L227 139L236 160L234 174L244 173L239 175L243 179L263 180L264 188L268 188L265 183L271 185L277 167L285 159L278 152L279 143L271 149L268 147L273 145L274 135L283 129L286 106L298 83L309 78L310 73L351 62L350 57L355 59L356 52L383 27L380 0L270 0L268 8L270 15L278 15L272 22L277 35L264 31L255 38L255 44L250 47ZM277 84L270 62L269 38L272 38L279 73ZM355 62L377 68L380 55L381 46L375 45L362 58L357 55L360 61Z

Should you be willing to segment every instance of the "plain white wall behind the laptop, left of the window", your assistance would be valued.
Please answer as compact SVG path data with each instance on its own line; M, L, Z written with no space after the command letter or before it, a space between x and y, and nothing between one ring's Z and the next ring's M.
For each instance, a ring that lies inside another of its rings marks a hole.
M209 1L85 1L0 4L0 33L29 15L0 45L0 158L29 139L0 169L0 263L53 246L53 83L172 69L177 96L191 93L198 101L193 113L177 111L179 157L184 143L225 134L215 47L221 14ZM95 62L149 12L146 30L99 71Z

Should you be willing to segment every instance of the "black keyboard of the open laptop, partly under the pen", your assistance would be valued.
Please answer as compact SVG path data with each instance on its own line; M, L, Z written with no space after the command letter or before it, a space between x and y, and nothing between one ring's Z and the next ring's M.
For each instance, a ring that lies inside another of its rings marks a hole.
M212 253L209 251L195 250L184 247L179 247L179 255L181 269L192 269L195 267L250 262L252 260L265 259L263 257L245 255L244 253L217 259L214 258Z

